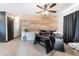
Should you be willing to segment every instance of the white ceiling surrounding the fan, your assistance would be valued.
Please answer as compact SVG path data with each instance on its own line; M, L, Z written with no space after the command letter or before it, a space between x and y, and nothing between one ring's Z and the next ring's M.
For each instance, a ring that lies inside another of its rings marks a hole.
M40 11L36 5L43 6L44 4L34 4L34 3L0 3L0 11L6 11L17 16L27 16L27 15L41 15L35 12ZM50 13L49 15L59 15L64 12L67 8L74 5L74 3L57 3L53 10L57 13Z

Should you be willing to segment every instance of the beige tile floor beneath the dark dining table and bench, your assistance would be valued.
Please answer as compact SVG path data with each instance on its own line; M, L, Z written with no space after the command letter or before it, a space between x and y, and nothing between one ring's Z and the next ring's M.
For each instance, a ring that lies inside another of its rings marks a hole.
M65 52L51 51L46 54L45 48L40 45L33 44L32 40L24 40L21 38L13 39L7 43L0 43L0 56L73 56L79 52L65 46Z

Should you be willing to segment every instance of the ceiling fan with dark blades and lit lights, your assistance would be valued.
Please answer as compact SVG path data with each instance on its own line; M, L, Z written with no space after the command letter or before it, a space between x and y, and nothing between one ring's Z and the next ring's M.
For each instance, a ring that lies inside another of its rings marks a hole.
M52 10L53 7L56 6L56 3L44 4L44 6L36 5L36 7L40 8L41 10L36 13L42 13L44 16L47 16L49 12L56 13L55 10Z

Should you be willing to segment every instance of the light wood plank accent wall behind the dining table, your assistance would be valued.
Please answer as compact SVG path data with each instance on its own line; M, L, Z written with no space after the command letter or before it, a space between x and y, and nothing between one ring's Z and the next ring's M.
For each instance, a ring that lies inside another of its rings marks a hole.
M57 29L57 16L27 16L21 19L21 30L27 28L29 31L38 31L39 29Z

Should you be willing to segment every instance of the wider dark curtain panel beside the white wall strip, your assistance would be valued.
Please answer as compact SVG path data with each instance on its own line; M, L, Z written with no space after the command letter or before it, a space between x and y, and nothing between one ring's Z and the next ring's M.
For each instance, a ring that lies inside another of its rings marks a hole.
M75 35L76 13L64 16L63 39L65 43L73 42Z

